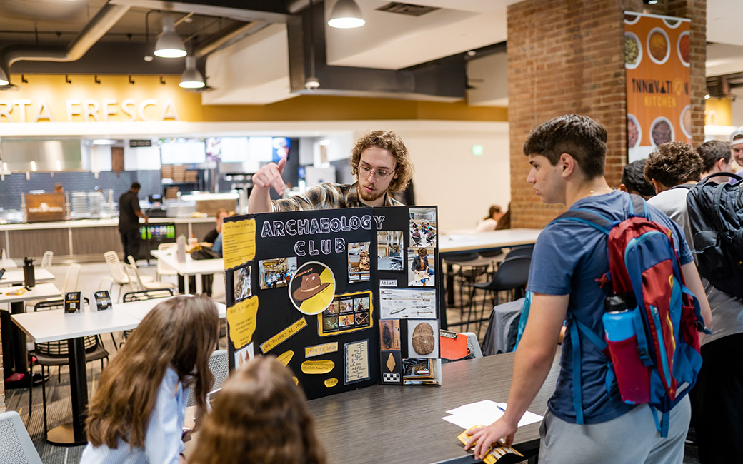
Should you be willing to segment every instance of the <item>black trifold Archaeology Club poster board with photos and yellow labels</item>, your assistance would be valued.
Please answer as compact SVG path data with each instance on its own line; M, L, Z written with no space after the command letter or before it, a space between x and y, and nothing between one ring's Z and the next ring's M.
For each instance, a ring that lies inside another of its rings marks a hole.
M276 356L310 399L441 385L436 215L394 206L225 218L230 369Z

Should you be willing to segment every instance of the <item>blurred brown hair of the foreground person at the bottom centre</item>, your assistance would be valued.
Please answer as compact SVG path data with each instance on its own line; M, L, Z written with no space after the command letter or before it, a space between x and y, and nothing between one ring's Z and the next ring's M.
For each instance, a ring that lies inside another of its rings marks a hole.
M305 393L270 356L224 382L189 463L324 464Z

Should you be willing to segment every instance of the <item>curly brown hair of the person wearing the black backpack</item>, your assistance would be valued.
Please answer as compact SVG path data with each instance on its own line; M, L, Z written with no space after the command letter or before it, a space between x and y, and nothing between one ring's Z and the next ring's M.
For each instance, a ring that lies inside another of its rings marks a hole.
M668 188L690 181L698 182L704 163L694 148L684 142L663 143L650 153L645 163L645 178Z

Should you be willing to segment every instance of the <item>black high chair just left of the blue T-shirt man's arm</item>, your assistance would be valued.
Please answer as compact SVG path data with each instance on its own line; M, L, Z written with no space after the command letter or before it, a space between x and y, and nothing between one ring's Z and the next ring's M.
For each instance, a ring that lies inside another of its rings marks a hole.
M480 328L487 318L484 318L485 307L487 304L487 293L493 292L495 294L495 304L500 304L499 292L502 290L510 290L513 295L511 299L521 298L526 293L526 282L529 278L529 266L531 264L531 256L514 256L512 258L504 259L498 267L493 280L484 284L472 284L470 290L470 311L467 314L467 328L465 332L470 331L470 324L477 324L476 333L480 332ZM475 306L475 293L477 290L485 290L485 295L482 300L482 308L479 315L473 319L473 309Z

